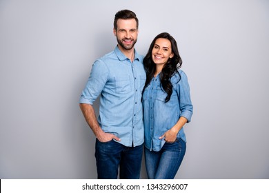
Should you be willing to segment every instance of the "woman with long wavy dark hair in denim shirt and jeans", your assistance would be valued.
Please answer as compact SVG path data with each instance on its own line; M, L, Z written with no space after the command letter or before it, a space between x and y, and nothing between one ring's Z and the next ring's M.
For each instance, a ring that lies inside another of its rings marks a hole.
M183 125L190 122L192 102L181 68L177 41L164 32L152 41L143 59L145 159L149 179L174 179L186 152Z

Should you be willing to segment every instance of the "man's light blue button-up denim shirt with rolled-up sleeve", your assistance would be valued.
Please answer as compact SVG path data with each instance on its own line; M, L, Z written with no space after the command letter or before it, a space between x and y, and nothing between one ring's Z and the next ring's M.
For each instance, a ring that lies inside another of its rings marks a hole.
M100 96L97 121L104 132L118 136L128 147L144 141L141 94L146 81L143 57L130 61L116 46L92 65L79 103L92 105Z

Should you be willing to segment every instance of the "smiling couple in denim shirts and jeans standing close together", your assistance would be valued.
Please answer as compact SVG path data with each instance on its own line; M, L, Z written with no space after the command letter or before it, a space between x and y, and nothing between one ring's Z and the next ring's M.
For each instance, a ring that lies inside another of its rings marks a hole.
M94 61L80 108L97 137L98 179L139 179L143 149L149 179L174 179L186 152L183 125L192 116L190 88L179 70L177 42L164 32L146 57L134 48L139 21L134 12L114 17L114 51ZM99 116L92 104L100 97Z

